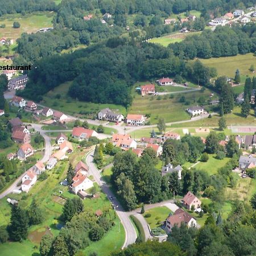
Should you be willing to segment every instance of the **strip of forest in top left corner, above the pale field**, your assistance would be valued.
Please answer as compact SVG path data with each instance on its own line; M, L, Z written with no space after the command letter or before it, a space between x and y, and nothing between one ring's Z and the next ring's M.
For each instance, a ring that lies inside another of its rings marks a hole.
M53 0L0 0L0 16L13 13L32 13L33 11L56 11Z

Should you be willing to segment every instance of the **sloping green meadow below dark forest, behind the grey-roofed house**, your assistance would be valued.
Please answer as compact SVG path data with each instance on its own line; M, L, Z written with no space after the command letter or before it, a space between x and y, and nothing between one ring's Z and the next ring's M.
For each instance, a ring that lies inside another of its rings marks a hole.
M54 88L48 92L43 98L43 104L49 108L60 110L66 114L76 115L77 117L85 117L82 113L92 114L92 117L97 114L101 109L110 108L114 110L119 110L122 114L126 115L125 107L121 105L114 104L97 104L92 102L84 102L74 100L67 95L68 88L71 85L71 82L65 82L60 86ZM56 98L56 95L60 94L60 98ZM79 114L81 113L81 114Z

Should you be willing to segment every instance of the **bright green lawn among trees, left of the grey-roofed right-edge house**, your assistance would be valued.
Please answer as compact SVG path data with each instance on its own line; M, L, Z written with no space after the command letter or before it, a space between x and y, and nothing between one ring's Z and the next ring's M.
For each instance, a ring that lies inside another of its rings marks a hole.
M230 158L224 158L222 160L216 159L215 154L209 155L209 160L207 162L200 162L196 164L195 168L200 170L205 170L209 175L217 174L218 169L225 166L225 164L230 160ZM192 164L191 164L192 165Z

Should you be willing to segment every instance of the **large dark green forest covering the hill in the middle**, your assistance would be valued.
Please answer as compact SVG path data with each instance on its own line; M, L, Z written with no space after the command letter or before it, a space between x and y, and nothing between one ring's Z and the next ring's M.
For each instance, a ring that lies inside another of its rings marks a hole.
M44 57L28 75L30 81L19 94L36 101L62 82L74 80L69 89L73 98L128 106L131 85L139 79L182 75L208 85L216 72L200 61L186 64L162 46L113 38L70 54Z

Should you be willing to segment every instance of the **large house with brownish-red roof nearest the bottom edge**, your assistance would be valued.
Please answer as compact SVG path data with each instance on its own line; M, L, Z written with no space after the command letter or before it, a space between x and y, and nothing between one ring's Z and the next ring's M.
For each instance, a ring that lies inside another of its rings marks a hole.
M197 226L196 219L190 214L179 208L175 210L174 214L166 219L165 227L167 233L170 233L174 225L180 227L181 223L184 222L188 227Z

